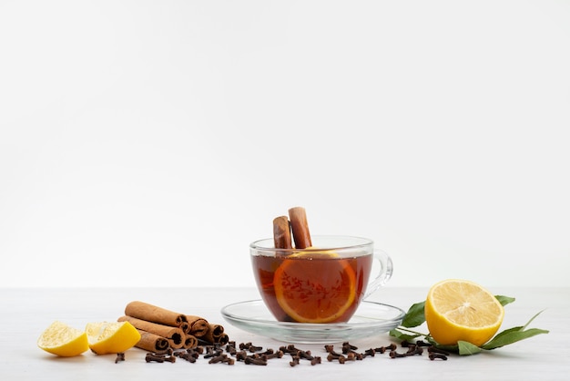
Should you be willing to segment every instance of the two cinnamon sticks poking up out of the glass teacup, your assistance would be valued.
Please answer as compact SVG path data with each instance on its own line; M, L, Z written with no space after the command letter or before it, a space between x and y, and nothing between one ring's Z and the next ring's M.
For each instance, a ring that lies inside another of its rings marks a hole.
M292 240L291 240L292 235ZM312 246L310 241L307 212L300 206L289 210L287 216L279 216L273 220L273 242L276 249L306 249Z

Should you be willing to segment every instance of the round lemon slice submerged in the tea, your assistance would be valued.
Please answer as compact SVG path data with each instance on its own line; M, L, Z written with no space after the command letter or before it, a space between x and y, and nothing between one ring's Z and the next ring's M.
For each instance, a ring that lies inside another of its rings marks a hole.
M298 323L332 323L354 303L356 274L335 252L295 253L273 275L278 304Z

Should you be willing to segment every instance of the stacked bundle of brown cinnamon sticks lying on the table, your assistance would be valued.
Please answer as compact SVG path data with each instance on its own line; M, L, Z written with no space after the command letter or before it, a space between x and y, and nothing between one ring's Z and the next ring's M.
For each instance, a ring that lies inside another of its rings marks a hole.
M139 301L127 304L125 315L117 321L133 324L140 333L136 346L150 352L195 348L200 342L226 344L229 341L223 325Z

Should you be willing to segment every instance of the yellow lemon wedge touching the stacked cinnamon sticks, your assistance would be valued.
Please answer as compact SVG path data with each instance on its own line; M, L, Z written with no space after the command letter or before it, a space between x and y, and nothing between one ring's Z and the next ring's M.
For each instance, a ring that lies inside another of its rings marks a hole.
M97 355L125 352L140 340L137 328L128 322L88 323L85 330L89 348Z

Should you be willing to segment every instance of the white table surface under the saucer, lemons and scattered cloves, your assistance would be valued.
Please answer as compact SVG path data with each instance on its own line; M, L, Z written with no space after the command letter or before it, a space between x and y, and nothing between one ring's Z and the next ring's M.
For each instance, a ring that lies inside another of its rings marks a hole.
M210 365L198 359L191 364L177 359L170 363L146 363L146 352L133 348L126 361L115 363L116 355L84 355L60 358L36 346L42 331L54 320L84 328L88 322L114 321L133 300L157 304L184 314L198 314L211 323L223 324L229 339L236 343L252 342L264 348L278 348L281 343L252 335L225 322L219 312L226 304L259 299L253 289L0 289L0 380L564 380L570 377L570 288L492 289L495 294L516 297L505 307L501 329L525 324L544 310L532 327L550 330L514 345L478 355L452 355L448 361L430 361L427 355L391 359L387 355L367 357L344 365L326 361L323 345L297 345L321 355L323 363L308 362L290 367L289 359L270 360L268 366ZM386 287L370 300L392 304L407 310L425 298L427 288ZM422 327L420 327L422 328ZM422 332L426 330L418 329ZM387 334L351 341L359 349L388 345ZM335 343L331 343L335 344ZM341 343L336 343L336 347Z

